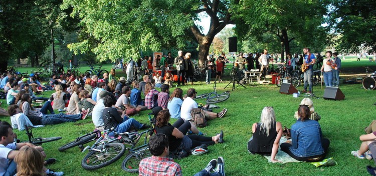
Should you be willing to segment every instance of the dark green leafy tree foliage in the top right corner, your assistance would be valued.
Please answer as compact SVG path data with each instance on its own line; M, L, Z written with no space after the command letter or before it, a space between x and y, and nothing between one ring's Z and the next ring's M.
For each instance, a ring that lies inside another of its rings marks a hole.
M368 53L376 52L375 6L374 0L333 0L328 23L340 34L338 51L355 53L364 48Z

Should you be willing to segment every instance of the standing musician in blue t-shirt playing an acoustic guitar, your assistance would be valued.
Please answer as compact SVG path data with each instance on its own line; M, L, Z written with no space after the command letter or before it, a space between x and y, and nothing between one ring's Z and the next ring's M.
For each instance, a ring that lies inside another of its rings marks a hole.
M313 64L315 63L315 55L310 53L309 48L303 48L304 59L303 64L308 64L308 69L304 72L304 89L303 93L307 92L307 83L309 83L308 93L312 93L312 74L313 74ZM303 67L303 65L302 65Z

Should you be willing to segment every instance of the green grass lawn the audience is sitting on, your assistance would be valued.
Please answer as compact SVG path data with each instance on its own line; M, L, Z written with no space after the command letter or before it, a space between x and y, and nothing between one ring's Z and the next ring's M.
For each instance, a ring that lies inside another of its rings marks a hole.
M360 65L362 64L362 65ZM347 59L343 61L343 67L358 67L359 72L363 72L360 66L371 65L365 59L356 61ZM353 66L356 65L356 66ZM110 67L111 65L105 65ZM26 68L22 68L26 69ZM21 71L21 69L19 69ZM31 68L28 68L31 70ZM122 75L117 75L122 76ZM223 87L228 83L217 84L217 90L223 92L231 90ZM184 92L190 87L197 89L199 94L213 90L213 84L207 85L204 81L196 82L195 85L182 86ZM176 160L182 167L184 175L194 175L203 169L206 164L218 156L225 158L225 171L227 175L366 175L366 165L374 165L373 160L358 159L350 154L351 150L357 150L360 145L359 136L364 133L364 127L374 119L376 91L365 90L361 84L341 84L340 89L345 94L342 101L325 100L323 98L313 99L315 111L321 115L319 121L323 136L330 140L329 153L327 157L333 157L338 162L336 166L316 168L312 164L304 162L295 163L269 163L266 158L260 155L251 155L247 151L247 141L251 137L252 123L259 121L261 110L264 106L273 106L277 121L282 125L291 126L294 122L294 112L303 97L294 98L292 95L279 93L276 85L252 85L238 87L231 91L228 100L218 103L222 108L229 111L224 118L209 121L209 125L200 130L208 136L215 135L221 129L224 130L225 143L209 147L209 152L189 156L181 160ZM173 88L172 88L173 89ZM172 89L170 90L172 92ZM298 87L302 90L302 86ZM315 94L322 97L324 90L320 86L314 86ZM43 96L48 97L53 91L44 92ZM3 100L4 101L4 100ZM5 101L4 101L5 102ZM6 108L3 102L2 107ZM204 100L199 100L204 102ZM214 109L215 112L220 109ZM143 111L135 119L147 122L147 113ZM0 117L0 120L10 122L9 117ZM115 163L101 169L88 171L81 167L81 160L87 152L82 153L77 147L59 152L57 148L86 132L92 131L94 125L91 117L77 122L69 122L57 125L47 125L45 127L34 128L34 135L62 136L58 141L44 143L48 157L56 157L57 163L49 165L49 168L64 171L65 175L137 175L127 173L121 169L121 162L125 158L124 154ZM15 132L22 140L26 139L24 131ZM91 142L90 144L92 144Z

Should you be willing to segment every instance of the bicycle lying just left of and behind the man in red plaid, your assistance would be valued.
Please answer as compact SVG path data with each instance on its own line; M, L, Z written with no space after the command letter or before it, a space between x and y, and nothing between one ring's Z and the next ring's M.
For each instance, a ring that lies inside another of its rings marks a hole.
M151 156L148 142L147 142L147 133L149 131L153 131L153 133L156 133L155 128L154 128L154 123L151 119L151 114L152 113L148 113L150 126L152 126L151 129L142 131L140 133L131 132L131 133L128 133L127 136L123 137L127 141L126 143L131 145L130 148L127 148L129 149L130 154L128 154L123 160L123 162L121 163L121 168L127 172L130 172L130 173L138 172L138 165L140 161L145 157ZM141 139L143 134L145 134L144 142L143 144L138 144L138 141Z

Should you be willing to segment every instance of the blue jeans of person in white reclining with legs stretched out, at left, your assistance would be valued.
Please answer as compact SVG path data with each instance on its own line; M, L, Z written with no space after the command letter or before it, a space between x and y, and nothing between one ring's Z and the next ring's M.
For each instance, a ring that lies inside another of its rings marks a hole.
M42 125L74 122L81 119L81 114L67 115L64 113L42 115Z

